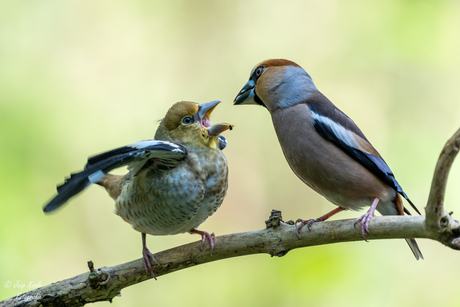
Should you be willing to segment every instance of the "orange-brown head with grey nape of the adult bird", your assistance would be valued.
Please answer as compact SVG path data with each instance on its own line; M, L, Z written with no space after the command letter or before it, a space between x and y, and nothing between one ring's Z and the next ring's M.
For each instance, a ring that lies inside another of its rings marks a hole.
M254 66L233 104L258 104L273 112L300 103L315 91L310 75L298 64L272 59Z

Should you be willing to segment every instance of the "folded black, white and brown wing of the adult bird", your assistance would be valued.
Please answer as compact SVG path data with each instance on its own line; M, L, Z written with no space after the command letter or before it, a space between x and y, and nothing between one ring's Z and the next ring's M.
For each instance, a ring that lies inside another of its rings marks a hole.
M388 164L386 164L353 120L336 108L322 94L318 97L311 97L308 99L307 104L312 112L315 130L322 137L332 142L377 178L391 186L420 214L396 181ZM405 211L408 213L407 210Z

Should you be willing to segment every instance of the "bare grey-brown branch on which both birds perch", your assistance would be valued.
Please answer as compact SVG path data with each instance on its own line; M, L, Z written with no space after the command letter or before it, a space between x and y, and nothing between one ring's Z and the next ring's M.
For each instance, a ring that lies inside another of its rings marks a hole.
M444 211L443 202L450 167L460 147L460 129L446 143L441 152L431 185L425 216L374 217L370 223L368 240L396 238L427 238L460 249L460 224ZM214 251L194 242L155 254L160 265L154 266L157 276L162 276L191 266L226 258L251 254L284 256L290 250L314 245L361 241L354 220L339 220L313 224L295 236L292 222L283 222L281 212L273 210L267 227L261 230L216 237ZM358 227L359 228L359 227ZM120 290L150 279L141 259L90 272L47 285L0 302L4 306L83 306L97 301L111 301Z

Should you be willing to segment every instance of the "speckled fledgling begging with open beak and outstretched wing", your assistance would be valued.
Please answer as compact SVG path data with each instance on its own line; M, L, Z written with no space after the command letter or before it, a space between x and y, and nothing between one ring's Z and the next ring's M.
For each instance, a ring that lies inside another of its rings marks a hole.
M147 234L199 234L202 248L208 240L212 252L214 233L197 227L220 207L228 188L228 165L222 153L227 140L220 134L233 125L211 124L211 112L219 103L175 103L160 121L154 139L88 158L83 171L57 187L58 194L43 211L58 209L91 184L104 187L115 200L115 214L142 234L144 268L155 279L152 261L158 262L147 248ZM127 174L109 174L122 166L128 167Z

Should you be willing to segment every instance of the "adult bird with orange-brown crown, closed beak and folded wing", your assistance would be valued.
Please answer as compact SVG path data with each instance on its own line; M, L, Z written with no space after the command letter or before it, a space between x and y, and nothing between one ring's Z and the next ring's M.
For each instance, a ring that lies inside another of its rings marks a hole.
M410 214L401 197L420 214L363 132L317 89L297 63L270 59L257 64L233 103L265 107L292 171L338 206L316 219L298 219L297 237L305 225L311 229L313 223L340 211L370 207L354 224L361 224L366 240L375 210L381 215ZM406 241L415 258L423 259L415 239Z

